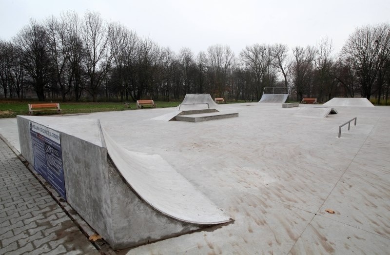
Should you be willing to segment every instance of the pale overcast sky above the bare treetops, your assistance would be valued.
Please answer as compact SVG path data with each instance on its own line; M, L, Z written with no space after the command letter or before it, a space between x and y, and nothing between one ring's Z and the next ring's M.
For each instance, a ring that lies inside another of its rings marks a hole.
M254 43L315 46L328 36L336 54L357 27L389 22L390 0L0 0L0 39L66 10L98 11L176 52L220 43L237 56Z

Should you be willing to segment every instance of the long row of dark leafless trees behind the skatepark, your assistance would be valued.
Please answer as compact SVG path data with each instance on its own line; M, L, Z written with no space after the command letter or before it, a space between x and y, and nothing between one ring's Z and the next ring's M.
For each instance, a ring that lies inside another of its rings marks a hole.
M209 93L259 100L265 87L303 97L389 98L390 25L357 28L339 54L325 37L315 46L247 45L238 56L228 45L178 53L141 38L98 12L68 11L31 19L10 41L0 40L0 96L60 99L179 100Z

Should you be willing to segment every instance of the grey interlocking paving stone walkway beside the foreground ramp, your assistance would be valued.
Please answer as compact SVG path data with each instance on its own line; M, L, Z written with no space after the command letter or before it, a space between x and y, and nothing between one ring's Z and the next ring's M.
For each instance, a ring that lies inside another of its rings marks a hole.
M0 254L99 254L1 138Z

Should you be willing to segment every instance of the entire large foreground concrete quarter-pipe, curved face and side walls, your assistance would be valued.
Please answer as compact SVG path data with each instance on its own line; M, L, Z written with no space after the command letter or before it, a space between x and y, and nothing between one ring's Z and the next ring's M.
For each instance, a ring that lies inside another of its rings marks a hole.
M63 197L114 249L230 221L162 157L125 150L98 119L18 116L17 121L22 156L34 169L62 166ZM55 146L48 140L52 136L58 137ZM48 146L39 145L43 142ZM61 161L53 155L62 155Z

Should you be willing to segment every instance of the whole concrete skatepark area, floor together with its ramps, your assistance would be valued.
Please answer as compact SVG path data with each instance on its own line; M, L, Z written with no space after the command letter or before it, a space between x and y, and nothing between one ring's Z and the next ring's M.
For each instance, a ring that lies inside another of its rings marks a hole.
M19 116L0 134L33 164L29 123L58 132L69 204L122 254L385 254L390 107L346 99Z

